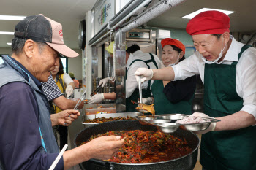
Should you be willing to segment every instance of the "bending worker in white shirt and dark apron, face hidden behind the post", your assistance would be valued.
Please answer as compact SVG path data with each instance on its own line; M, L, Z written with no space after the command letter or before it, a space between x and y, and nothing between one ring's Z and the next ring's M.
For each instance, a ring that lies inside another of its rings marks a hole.
M127 50L126 50L126 81L125 81L125 91L126 91L126 112L137 112L135 109L137 104L133 104L132 101L138 101L139 89L138 82L135 79L134 73L138 68L152 68L158 69L161 65L161 61L157 57L157 55L151 53L143 53L140 50L140 46L136 42L127 41ZM99 81L99 85L102 87L108 82L110 79L107 77L103 80ZM154 81L146 81L141 85L142 88L142 96L150 97L151 96L151 85ZM110 97L110 98L108 98ZM102 101L103 99L113 99L116 98L115 93L101 93L94 95L89 103L97 103Z

